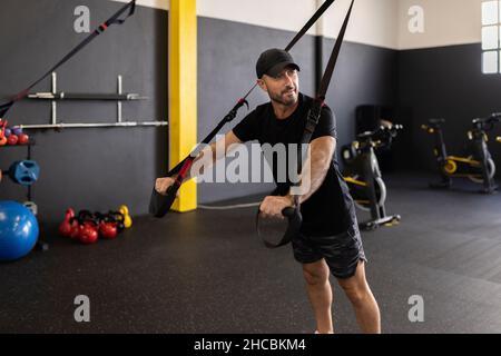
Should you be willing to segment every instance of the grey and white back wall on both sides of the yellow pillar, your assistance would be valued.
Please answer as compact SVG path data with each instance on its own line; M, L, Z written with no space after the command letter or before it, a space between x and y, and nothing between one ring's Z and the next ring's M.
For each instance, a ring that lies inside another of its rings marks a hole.
M292 6L285 0L243 3L236 6L229 0L197 2L199 139L250 88L259 52L269 47L284 47L316 8L313 0L293 2L297 7L294 11L284 10ZM307 95L315 92L314 36L325 36L325 66L348 3L347 0L336 1L323 26L315 28L292 51L303 69L301 88ZM337 118L338 147L353 138L357 105L396 105L397 53L393 47L397 41L394 18L397 7L395 0L381 3L383 8L375 8L372 0L357 1L352 19L358 26L351 26L346 33L347 41L327 96ZM2 11L12 17L0 23L0 38L4 44L0 97L7 98L22 89L86 36L73 31L73 10L80 4L81 1L73 0L2 1ZM118 8L116 1L86 0L85 4L90 9L91 29ZM122 75L126 92L149 98L125 102L125 119L168 119L167 11L167 1L138 1L136 16L125 26L110 28L58 70L58 90L115 92L117 76ZM255 23L256 19L261 22ZM17 29L16 32L12 29ZM37 86L35 91L50 91L50 80ZM252 108L265 100L259 90L249 97ZM240 110L234 123L223 131L236 125L245 112L245 109ZM61 102L58 103L58 118L65 122L114 121L116 105ZM10 111L8 119L13 125L48 123L50 103L23 100ZM108 210L127 204L134 215L147 214L154 179L167 168L166 128L66 129L29 134L35 134L37 140L32 158L41 166L40 180L32 187L41 219L58 221L69 206ZM2 150L0 167L24 156L22 148ZM210 202L269 190L271 186L263 185L200 184L198 201ZM23 200L24 195L26 189L8 180L2 182L0 199Z

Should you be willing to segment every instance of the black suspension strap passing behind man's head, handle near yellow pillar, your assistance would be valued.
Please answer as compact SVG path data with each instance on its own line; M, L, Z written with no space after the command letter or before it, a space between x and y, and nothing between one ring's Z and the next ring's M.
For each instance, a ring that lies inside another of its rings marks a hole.
M285 48L286 51L289 51L294 44L310 30L310 28L318 20L318 18L327 10L331 4L335 0L326 0L320 8L316 10L316 12L313 14L313 17L306 22L306 24L301 29L299 32L293 38L293 40L287 44ZM151 192L151 198L149 200L149 212L154 215L157 218L164 217L170 209L170 207L174 204L174 200L176 199L177 190L179 190L179 187L183 184L183 180L186 178L186 175L188 174L189 169L191 168L191 165L194 160L197 158L198 154L202 151L205 145L208 145L213 138L219 132L219 130L227 123L230 122L238 113L238 110L246 105L248 109L248 102L247 97L253 92L253 90L256 88L257 82L250 88L247 93L238 99L237 103L233 107L233 109L223 118L223 120L217 125L217 127L210 131L210 134L195 147L195 149L185 158L183 159L176 167L174 167L171 170L167 172L167 177L171 177L177 174L176 181L174 185L171 185L165 195L160 195L154 187Z

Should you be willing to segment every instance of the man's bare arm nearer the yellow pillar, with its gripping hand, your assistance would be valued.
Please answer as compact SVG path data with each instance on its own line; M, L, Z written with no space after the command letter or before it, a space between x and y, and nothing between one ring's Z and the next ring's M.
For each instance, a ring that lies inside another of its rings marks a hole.
M212 156L212 159L208 159L208 165L203 166L202 171L200 171L200 174L203 174L205 168L212 167L217 160L225 157L233 148L232 145L236 145L236 144L242 144L242 141L238 139L238 137L236 137L236 135L233 131L229 131L220 140L217 140L216 142L213 142L213 144L206 146L198 154L197 158L195 158L191 166L199 159L204 159L204 157L206 157L207 155ZM224 145L224 149L223 149L222 145ZM176 180L176 177L177 176L157 178L157 180L155 181L155 189L160 194L165 194L166 190L168 189L168 187L170 187L174 184L174 181ZM189 171L186 175L185 180L189 180L191 178L195 178L195 177L193 177Z

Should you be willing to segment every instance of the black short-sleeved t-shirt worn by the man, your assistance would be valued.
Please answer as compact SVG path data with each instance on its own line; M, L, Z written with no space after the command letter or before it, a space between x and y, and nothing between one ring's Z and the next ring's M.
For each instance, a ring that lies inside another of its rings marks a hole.
M261 105L236 125L233 132L242 141L258 140L261 145L298 144L303 137L312 103L311 97L299 93L299 105L286 119L276 118L271 102ZM327 106L322 109L312 140L323 136L336 138L334 115ZM277 181L276 166L273 165L275 182ZM289 186L289 182L277 184L277 192L285 195ZM335 154L324 182L301 205L301 212L303 215L301 231L308 236L337 235L356 224L353 199L340 172Z

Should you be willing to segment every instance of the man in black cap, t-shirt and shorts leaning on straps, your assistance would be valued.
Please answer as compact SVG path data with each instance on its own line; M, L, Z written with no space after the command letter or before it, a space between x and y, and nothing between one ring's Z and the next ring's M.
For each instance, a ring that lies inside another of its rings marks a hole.
M258 140L261 145L298 144L313 99L299 93L299 67L292 56L269 49L256 65L257 83L271 101L258 106L232 131L226 134L224 152L234 144ZM216 157L216 145L198 156ZM298 197L303 225L292 241L294 257L303 266L306 290L316 319L316 332L334 333L332 322L332 287L330 273L337 278L351 300L358 325L364 333L380 333L380 310L365 279L365 255L357 228L353 199L335 161L336 129L327 106L321 112L310 146L310 190ZM276 167L274 177L276 180ZM174 177L175 178L175 177ZM158 178L156 190L164 194L173 178ZM293 205L287 192L291 184L277 184L282 196L268 196L261 205L264 216L281 217Z

